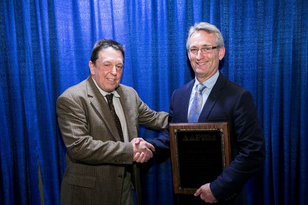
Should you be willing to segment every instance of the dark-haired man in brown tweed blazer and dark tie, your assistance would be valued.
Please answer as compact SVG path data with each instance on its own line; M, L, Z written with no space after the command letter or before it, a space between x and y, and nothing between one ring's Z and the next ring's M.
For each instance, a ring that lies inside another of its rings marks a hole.
M132 187L141 204L139 169L134 162L148 161L154 147L136 138L139 124L162 130L167 113L151 110L133 88L119 84L123 59L122 45L98 41L89 61L91 75L58 98L58 122L67 148L63 205L133 205ZM111 93L123 141L106 99Z

